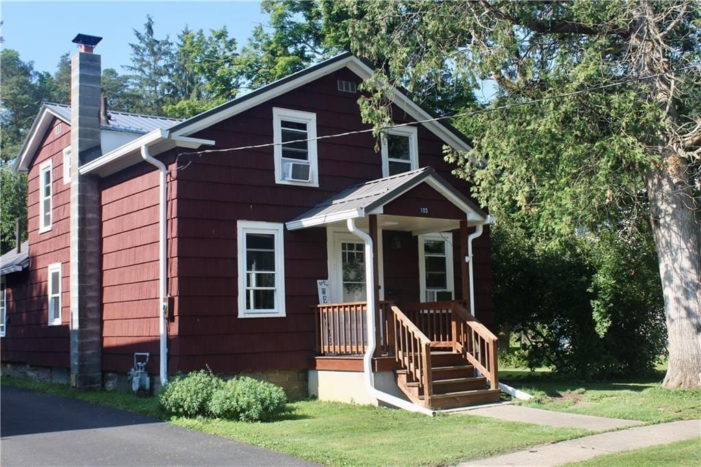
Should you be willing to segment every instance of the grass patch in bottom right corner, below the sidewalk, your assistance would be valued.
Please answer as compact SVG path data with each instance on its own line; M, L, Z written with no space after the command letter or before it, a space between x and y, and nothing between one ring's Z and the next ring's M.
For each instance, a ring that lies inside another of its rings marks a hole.
M701 438L606 454L567 465L577 467L701 466Z

